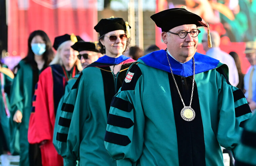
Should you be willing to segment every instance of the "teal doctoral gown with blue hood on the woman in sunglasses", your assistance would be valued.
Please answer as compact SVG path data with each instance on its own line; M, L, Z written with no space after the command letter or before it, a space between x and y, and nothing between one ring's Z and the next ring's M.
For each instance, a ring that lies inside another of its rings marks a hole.
M80 166L114 166L104 147L107 115L112 97L117 93L134 60L125 56L99 58L83 70L64 98L54 145L63 158L78 160ZM116 75L109 66L122 64ZM57 121L57 119L56 119Z

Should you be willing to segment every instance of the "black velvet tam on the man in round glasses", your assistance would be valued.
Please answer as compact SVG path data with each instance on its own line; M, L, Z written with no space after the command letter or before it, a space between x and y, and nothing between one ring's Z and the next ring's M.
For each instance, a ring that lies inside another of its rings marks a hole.
M160 11L150 16L156 26L167 32L174 27L195 24L197 27L207 27L207 23L199 16L184 8L172 8Z

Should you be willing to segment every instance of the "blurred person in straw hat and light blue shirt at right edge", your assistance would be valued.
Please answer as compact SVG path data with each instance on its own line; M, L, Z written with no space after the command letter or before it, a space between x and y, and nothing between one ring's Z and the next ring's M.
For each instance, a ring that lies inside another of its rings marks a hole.
M252 111L256 109L256 43L247 42L245 56L251 67L244 77L245 97Z

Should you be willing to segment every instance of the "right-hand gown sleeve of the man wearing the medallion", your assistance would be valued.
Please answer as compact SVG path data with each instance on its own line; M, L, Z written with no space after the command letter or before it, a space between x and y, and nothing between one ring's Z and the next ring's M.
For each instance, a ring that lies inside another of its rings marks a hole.
M219 123L217 139L220 145L231 150L236 157L236 146L244 123L252 116L241 89L227 83L225 74L217 75Z

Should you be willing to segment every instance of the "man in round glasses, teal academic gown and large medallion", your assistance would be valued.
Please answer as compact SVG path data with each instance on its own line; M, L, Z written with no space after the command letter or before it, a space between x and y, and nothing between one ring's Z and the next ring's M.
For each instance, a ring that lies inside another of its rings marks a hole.
M223 166L221 147L236 157L251 117L246 98L226 65L196 52L197 27L207 27L200 16L173 8L151 18L167 49L128 70L110 104L105 147L118 166Z

